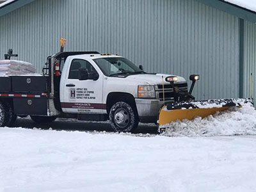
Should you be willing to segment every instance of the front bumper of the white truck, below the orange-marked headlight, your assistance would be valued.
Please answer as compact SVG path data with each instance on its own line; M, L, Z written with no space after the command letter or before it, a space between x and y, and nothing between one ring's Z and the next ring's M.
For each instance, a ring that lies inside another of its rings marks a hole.
M135 99L141 123L156 123L163 102L157 99Z

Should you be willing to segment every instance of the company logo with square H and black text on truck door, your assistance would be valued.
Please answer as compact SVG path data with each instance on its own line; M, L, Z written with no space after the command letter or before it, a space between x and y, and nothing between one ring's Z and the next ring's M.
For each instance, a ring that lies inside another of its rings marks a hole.
M95 100L95 92L87 88L69 88L68 98L72 99L90 99Z

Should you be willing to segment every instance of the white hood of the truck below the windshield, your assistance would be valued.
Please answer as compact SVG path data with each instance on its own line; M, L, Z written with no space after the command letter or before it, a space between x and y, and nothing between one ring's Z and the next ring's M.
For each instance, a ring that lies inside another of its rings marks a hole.
M165 81L165 77L168 76L174 76L171 74L138 74L134 76L128 76L125 79L129 81L136 81L140 84L148 84L148 85L156 85L156 84L162 84L163 83L163 77L164 77L164 84L169 84ZM178 77L178 81L175 83L186 83L186 79L180 76Z

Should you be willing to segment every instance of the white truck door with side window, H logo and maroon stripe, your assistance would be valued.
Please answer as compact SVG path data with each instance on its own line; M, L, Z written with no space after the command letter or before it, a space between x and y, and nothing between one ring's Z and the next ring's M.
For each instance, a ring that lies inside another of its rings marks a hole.
M102 104L103 76L99 79L79 80L79 68L84 68L89 74L97 73L92 63L83 59L73 59L68 74L64 80L63 100L61 108L65 113L106 113L106 105Z

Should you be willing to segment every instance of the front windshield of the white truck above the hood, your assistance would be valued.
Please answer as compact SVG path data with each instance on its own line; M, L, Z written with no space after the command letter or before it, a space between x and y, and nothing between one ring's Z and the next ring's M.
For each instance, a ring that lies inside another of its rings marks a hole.
M125 58L98 58L93 60L105 76L143 74L142 70Z

